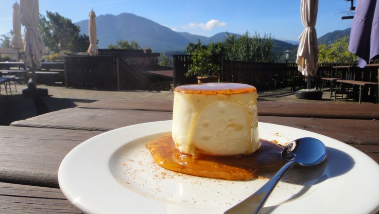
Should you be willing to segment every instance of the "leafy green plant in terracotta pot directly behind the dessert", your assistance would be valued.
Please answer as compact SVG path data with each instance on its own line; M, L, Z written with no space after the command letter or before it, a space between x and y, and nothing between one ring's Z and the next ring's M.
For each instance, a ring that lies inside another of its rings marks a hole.
M193 49L191 64L186 76L196 76L198 83L218 82L220 65L212 61L212 53L209 48Z

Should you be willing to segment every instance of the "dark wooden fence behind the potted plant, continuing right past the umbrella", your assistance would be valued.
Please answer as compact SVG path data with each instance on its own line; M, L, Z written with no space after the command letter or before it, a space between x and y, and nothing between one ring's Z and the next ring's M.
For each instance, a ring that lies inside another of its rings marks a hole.
M195 77L186 77L190 65L190 55L173 55L173 86L192 84ZM254 85L260 89L289 86L293 76L301 76L295 63L257 63L224 60L222 55L215 55L215 63L220 65L220 82L233 82ZM353 64L319 64L316 77L335 76L333 66Z

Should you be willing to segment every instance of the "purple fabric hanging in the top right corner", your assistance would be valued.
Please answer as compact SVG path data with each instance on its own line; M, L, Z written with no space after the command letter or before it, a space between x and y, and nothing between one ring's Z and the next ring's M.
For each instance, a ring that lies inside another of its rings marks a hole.
M363 68L379 54L379 1L358 0L351 27L349 51Z

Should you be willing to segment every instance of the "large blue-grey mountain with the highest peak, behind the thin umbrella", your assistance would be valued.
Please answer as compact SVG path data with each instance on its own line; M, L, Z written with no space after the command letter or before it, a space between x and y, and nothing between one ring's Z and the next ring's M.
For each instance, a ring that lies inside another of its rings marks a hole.
M88 35L88 19L75 24L80 27L81 34ZM183 50L189 43L187 38L170 28L129 13L101 15L96 18L96 28L99 48L107 48L121 39L135 40L141 48L152 47L155 52Z

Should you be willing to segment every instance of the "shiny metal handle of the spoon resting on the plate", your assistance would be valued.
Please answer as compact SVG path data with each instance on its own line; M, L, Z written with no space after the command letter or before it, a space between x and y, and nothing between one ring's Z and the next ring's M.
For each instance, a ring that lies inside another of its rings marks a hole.
M297 163L296 161L287 162L267 183L265 183L260 189L253 195L241 201L239 204L225 211L224 214L258 214L266 203L268 196L275 188L277 182L284 174Z

